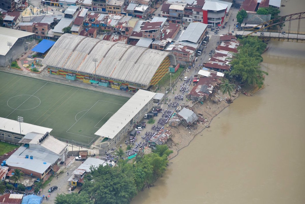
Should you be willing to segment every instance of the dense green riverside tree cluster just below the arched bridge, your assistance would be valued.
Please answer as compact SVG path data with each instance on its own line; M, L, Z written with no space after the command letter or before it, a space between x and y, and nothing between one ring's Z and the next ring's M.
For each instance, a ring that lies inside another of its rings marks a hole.
M259 63L263 61L261 54L267 45L257 36L242 38L240 44L239 52L230 62L232 71L229 75L240 83L261 87L264 84L264 75L268 73L260 70Z

